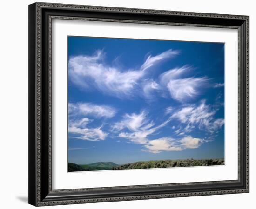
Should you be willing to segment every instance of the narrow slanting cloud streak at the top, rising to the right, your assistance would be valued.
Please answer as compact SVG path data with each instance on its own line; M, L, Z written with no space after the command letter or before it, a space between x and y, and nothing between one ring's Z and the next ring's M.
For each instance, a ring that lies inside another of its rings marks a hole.
M146 61L144 62L144 64L141 66L141 70L144 71L144 70L148 69L149 67L151 67L152 65L155 65L158 62L160 62L164 59L167 59L167 58L172 58L178 54L179 54L178 50L169 49L169 50L162 52L161 54L158 54L156 56L149 55L148 58L146 59Z

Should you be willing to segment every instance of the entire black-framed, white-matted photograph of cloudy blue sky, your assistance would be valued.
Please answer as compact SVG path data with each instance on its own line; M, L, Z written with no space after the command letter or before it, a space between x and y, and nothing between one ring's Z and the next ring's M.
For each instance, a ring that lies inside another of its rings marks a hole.
M249 17L29 5L29 203L249 192Z

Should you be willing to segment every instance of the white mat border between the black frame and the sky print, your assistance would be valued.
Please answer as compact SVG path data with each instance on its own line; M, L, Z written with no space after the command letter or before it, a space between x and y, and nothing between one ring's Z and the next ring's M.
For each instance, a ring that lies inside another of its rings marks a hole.
M237 35L237 29L54 19L52 21L52 189L237 179L238 92L234 91L238 88ZM225 166L67 173L67 36L224 42ZM186 175L188 173L189 175Z

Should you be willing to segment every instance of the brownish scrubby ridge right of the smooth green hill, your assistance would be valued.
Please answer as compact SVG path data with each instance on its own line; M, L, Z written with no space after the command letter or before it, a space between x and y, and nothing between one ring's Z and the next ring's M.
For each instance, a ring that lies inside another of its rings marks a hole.
M146 169L146 168L170 168L170 167L192 167L192 166L208 166L208 165L224 165L224 159L204 159L204 160L152 160L140 161L136 163L127 163L113 167L113 170L123 169Z

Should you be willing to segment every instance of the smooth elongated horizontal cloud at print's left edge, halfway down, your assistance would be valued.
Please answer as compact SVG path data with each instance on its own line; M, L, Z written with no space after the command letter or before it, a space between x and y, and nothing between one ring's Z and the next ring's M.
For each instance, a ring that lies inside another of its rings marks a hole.
M69 103L68 113L70 115L87 116L92 115L95 117L112 118L115 116L117 110L108 105L97 105L92 103Z

